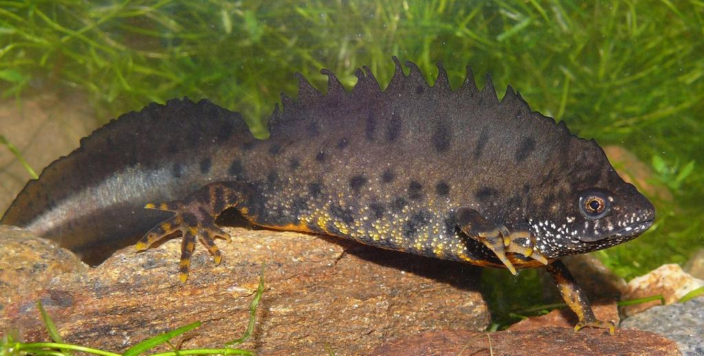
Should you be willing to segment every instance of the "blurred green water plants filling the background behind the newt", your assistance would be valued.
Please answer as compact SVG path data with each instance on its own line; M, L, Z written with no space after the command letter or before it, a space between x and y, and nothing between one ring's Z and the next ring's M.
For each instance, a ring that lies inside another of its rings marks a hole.
M279 93L296 95L296 71L324 91L321 68L351 87L369 65L385 86L396 55L431 83L441 61L456 88L470 65L479 87L490 73L500 97L511 84L611 146L653 200L650 231L596 253L629 279L704 246L703 16L695 0L0 1L0 94L21 105L82 93L93 127L152 101L210 98L263 137Z

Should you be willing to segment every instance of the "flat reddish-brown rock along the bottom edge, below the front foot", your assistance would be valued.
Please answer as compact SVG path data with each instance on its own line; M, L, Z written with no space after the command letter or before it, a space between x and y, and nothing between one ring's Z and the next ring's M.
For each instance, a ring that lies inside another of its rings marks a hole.
M370 355L681 355L677 345L656 333L619 330L573 331L543 328L532 331L429 331L384 343Z

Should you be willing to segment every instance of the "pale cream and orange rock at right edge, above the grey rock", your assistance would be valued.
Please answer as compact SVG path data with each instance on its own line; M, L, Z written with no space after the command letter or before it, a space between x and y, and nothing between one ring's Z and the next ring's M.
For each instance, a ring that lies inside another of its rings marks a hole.
M643 276L638 276L628 282L628 290L624 293L624 300L652 297L662 295L665 304L676 303L686 293L696 288L704 286L704 281L696 279L684 272L679 265L662 265ZM626 305L621 308L624 317L633 315L643 310L660 305L660 300L653 300L648 303Z

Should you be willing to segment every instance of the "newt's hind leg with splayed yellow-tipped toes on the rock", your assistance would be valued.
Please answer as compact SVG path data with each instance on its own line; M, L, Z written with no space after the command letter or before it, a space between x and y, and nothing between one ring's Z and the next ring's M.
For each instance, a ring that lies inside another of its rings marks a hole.
M168 203L149 203L144 208L173 212L174 215L149 230L135 245L135 248L146 250L159 239L180 232L183 240L181 242L179 278L185 283L188 279L191 255L196 246L196 240L208 248L210 255L213 255L215 264L220 264L222 254L218 246L215 245L214 239L219 237L229 242L230 235L215 224L215 219L220 215L220 212L237 206L243 200L244 193L240 184L216 182L203 186L182 200Z

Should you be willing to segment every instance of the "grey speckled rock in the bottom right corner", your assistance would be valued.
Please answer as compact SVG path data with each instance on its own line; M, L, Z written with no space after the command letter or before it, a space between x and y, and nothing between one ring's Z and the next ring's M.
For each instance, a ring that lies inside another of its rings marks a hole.
M624 319L625 328L659 333L675 341L686 356L704 355L704 296L686 303L651 307Z

